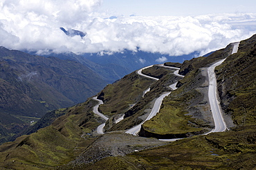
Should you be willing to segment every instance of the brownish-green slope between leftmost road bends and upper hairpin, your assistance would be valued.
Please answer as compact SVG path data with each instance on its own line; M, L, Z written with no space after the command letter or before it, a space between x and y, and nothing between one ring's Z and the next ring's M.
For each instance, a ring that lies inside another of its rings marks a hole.
M104 100L104 105L100 105L100 111L109 116L124 114L131 105L142 98L143 91L153 82L133 72L120 81L107 85L99 95L99 98Z

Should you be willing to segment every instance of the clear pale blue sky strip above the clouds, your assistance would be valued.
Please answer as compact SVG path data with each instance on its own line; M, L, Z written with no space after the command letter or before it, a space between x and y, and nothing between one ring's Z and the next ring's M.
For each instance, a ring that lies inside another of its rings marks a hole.
M105 0L102 8L124 15L196 16L201 14L255 12L254 0Z

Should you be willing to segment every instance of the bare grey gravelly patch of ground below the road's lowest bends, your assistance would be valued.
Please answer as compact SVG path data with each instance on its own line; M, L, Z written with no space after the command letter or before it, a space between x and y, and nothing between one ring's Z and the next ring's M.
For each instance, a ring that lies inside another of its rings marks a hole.
M79 167L81 164L97 162L109 156L125 156L128 153L160 147L168 143L156 138L132 136L125 134L124 131L109 132L95 140L73 162L60 167L60 169Z

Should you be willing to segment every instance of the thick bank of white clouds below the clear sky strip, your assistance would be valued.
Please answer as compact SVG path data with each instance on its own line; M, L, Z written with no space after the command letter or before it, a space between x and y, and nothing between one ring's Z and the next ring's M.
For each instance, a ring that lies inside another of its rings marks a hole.
M12 0L0 3L0 45L17 50L99 54L124 49L179 56L205 54L256 33L256 14L197 17L118 16L97 12L102 0ZM60 27L86 32L66 36ZM140 61L141 62L141 61Z

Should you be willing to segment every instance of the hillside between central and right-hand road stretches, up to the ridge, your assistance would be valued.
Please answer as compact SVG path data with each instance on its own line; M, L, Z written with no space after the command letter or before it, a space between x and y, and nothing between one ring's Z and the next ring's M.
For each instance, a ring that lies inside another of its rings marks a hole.
M160 113L143 124L140 135L185 138L213 129L214 123L208 101L208 73L205 67L214 61L225 59L231 52L232 45L228 45L208 57L201 56L184 61L179 72L185 77L177 83L179 88L163 100Z

